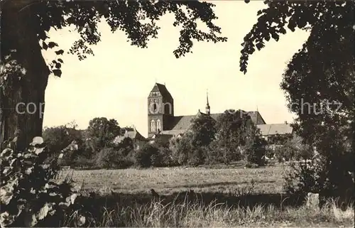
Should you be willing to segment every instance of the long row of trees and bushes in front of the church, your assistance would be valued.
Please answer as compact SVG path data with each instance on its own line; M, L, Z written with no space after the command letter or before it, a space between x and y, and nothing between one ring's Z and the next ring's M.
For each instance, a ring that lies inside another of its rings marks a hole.
M125 138L121 143L113 143L116 136L122 136L116 120L104 117L94 118L87 130L76 129L75 123L46 128L43 139L53 156L75 141L78 150L67 153L62 165L95 168L201 165L244 160L248 165L263 165L263 156L273 156L268 143L261 138L259 129L250 116L243 111L226 110L216 120L208 115L200 115L192 120L189 131L181 137L166 141L158 136L154 143L146 143L134 150L133 141ZM293 138L275 136L272 143L283 144L276 150L279 158L290 160L303 157ZM298 143L299 144L299 143Z

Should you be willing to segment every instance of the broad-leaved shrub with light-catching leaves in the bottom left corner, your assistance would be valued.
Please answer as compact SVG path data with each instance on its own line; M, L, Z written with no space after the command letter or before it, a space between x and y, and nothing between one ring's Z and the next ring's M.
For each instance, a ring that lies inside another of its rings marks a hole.
M53 227L73 210L77 193L66 179L55 183L57 159L35 137L26 151L1 152L1 227Z

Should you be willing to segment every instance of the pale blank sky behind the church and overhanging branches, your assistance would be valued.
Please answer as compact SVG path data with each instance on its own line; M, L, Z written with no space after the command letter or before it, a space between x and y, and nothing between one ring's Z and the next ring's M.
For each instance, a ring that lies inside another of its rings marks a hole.
M193 53L175 58L179 29L173 26L173 15L160 19L158 38L148 48L127 42L124 32L111 33L106 23L99 25L102 41L90 46L94 56L78 60L76 55L62 56L62 76L50 75L45 92L44 126L59 126L75 121L86 129L95 117L116 119L119 126L135 126L148 136L147 97L155 82L165 84L174 99L175 115L196 114L206 106L208 89L212 113L226 109L243 109L261 113L266 124L291 122L295 117L286 107L280 89L282 74L293 54L308 37L295 31L271 40L249 58L246 75L239 70L241 43L253 24L256 12L266 6L263 1L214 1L219 17L215 24L222 28L225 43L195 41ZM69 50L79 38L77 32L65 28L51 30L63 50ZM43 50L50 63L53 50Z

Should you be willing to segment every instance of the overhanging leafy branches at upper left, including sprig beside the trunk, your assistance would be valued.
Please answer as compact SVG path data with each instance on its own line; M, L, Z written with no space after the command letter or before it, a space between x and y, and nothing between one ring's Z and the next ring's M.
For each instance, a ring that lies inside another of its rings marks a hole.
M56 40L48 37L50 28L55 30L67 26L75 26L80 34L80 39L73 43L69 52L83 60L93 54L88 45L97 44L101 40L98 24L106 21L111 31L121 30L132 45L146 48L150 38L157 38L160 29L156 22L165 13L174 13L173 26L180 26L180 45L174 50L174 55L179 58L192 50L192 40L207 40L212 42L225 41L226 38L218 36L220 28L215 26L212 7L214 5L200 1L37 1L17 0L2 2L3 30L16 30L11 28L13 14L27 13L29 26L37 34L38 41L43 50L55 48L57 55L62 55L64 50L58 47ZM202 21L208 32L197 28L197 20ZM2 56L11 53L16 48L16 40L3 39ZM4 59L3 59L4 60ZM61 75L61 58L50 63L51 71Z

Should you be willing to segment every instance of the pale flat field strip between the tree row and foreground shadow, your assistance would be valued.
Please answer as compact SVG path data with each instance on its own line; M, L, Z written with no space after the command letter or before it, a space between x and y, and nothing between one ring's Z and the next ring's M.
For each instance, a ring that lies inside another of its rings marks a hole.
M195 192L230 192L254 182L254 193L283 192L284 165L268 168L153 168L146 170L75 170L77 185L84 181L85 191L101 194L141 193L153 188L161 194L186 190ZM62 173L62 177L67 175Z

